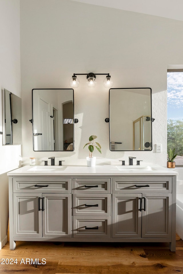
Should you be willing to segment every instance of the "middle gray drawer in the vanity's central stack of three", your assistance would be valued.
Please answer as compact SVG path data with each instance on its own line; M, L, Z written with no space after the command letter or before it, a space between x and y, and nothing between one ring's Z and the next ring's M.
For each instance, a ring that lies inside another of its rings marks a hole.
M73 194L73 216L110 216L110 194Z

